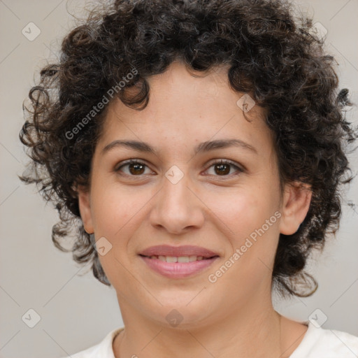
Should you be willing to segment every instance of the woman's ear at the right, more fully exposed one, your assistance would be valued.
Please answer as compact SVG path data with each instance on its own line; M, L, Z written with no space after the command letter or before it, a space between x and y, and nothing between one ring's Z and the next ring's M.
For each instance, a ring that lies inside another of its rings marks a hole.
M281 207L281 234L292 235L299 229L299 225L305 219L310 208L311 198L312 191L308 185L301 182L285 185Z

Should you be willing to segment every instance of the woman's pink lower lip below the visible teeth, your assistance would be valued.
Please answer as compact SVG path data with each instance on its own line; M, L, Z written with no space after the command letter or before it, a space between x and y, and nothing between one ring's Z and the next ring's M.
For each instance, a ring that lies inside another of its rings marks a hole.
M153 271L167 278L186 278L208 268L219 257L193 262L165 262L159 259L150 259L150 257L146 256L141 256L141 258Z

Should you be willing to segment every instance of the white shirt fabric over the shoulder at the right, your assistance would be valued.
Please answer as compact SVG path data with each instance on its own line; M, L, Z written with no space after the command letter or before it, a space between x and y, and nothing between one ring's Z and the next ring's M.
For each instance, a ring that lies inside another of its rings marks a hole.
M308 329L299 346L289 358L357 358L358 337L335 329L315 327Z

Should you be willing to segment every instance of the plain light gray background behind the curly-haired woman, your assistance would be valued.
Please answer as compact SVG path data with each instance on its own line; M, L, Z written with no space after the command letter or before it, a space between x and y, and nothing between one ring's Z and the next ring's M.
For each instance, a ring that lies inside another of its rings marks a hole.
M295 2L327 29L327 51L339 63L341 87L348 87L358 103L358 1ZM46 59L56 57L59 39L73 27L75 19L70 13L80 15L83 4L83 0L0 0L0 357L71 355L122 327L114 289L96 281L88 267L75 264L71 254L55 248L50 235L57 213L51 205L45 206L34 186L17 179L27 162L18 140L22 101L34 84L35 71ZM41 30L33 41L22 34L29 22ZM356 108L347 116L356 119ZM357 153L351 161L355 173ZM347 200L356 204L357 197L358 179L346 193ZM318 291L307 299L275 298L280 313L305 321L319 308L322 312L315 312L318 320L327 316L324 328L358 336L357 216L345 203L336 239L310 262L310 273L320 284ZM22 321L30 308L41 317L34 328Z

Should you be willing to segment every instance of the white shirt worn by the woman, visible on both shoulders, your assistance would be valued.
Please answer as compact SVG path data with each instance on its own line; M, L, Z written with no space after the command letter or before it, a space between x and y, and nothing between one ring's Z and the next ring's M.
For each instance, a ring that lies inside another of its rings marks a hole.
M357 358L358 337L342 331L316 328L310 322L303 340L289 358ZM101 343L71 355L72 358L115 358L112 342L124 327L111 331Z

